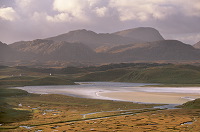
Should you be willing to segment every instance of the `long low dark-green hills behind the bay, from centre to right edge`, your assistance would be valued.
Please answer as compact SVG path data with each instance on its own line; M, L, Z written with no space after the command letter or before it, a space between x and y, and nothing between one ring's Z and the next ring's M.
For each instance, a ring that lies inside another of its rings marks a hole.
M192 65L136 65L126 68L96 71L77 78L78 81L117 81L162 83L165 85L199 86L200 66Z

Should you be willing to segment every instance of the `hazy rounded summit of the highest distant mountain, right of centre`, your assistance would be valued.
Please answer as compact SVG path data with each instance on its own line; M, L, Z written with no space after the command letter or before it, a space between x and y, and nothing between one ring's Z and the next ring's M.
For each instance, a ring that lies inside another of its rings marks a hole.
M151 27L139 27L113 33L115 35L142 40L143 42L152 42L164 40L158 30Z

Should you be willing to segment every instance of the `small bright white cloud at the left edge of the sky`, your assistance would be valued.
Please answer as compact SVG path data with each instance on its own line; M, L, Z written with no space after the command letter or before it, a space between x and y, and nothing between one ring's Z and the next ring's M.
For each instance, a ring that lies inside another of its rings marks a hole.
M5 7L0 8L0 18L7 21L14 21L18 16L12 7Z

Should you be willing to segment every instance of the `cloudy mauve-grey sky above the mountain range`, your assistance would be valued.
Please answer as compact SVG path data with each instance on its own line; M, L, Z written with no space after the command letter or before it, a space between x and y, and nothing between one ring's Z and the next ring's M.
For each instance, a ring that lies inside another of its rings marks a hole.
M135 27L194 44L200 41L200 0L0 0L0 41L7 44L76 29Z

